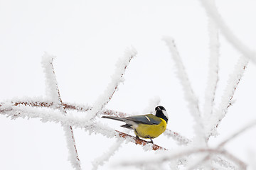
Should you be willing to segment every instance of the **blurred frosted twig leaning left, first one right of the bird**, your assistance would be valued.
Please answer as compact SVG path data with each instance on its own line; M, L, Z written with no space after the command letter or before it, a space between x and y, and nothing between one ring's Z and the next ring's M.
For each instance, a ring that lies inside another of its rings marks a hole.
M201 119L201 113L198 106L198 98L196 98L196 95L194 94L193 89L191 87L191 83L188 80L188 75L186 74L185 67L183 66L183 62L181 61L181 57L178 54L178 50L174 42L174 39L171 37L165 37L164 41L166 42L166 45L169 47L174 62L176 63L177 77L181 81L185 99L188 102L188 108L191 112L191 115L193 116L193 120L195 121L195 125L193 126L193 128L196 135L196 142L205 144L205 132L203 130L203 122ZM200 145L199 143L198 145Z

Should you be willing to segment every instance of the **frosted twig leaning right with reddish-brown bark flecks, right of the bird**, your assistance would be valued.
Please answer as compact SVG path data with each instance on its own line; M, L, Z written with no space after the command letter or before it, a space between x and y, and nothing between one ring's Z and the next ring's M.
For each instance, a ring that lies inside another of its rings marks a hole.
M216 129L220 124L221 120L225 117L228 112L228 108L232 105L233 96L235 94L235 90L238 87L240 80L242 79L242 75L245 72L245 68L247 67L248 59L245 57L240 57L238 63L235 65L233 74L230 74L230 78L228 79L228 84L224 90L224 94L221 98L220 106L218 110L213 113L209 122L207 123L206 130L208 132L208 137L214 136L217 134Z

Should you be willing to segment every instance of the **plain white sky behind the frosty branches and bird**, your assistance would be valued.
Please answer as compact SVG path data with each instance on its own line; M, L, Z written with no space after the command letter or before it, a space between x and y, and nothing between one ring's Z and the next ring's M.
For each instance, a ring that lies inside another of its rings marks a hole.
M248 47L256 44L256 3L216 1L220 14L235 35ZM208 19L198 1L4 1L0 0L0 99L45 95L43 52L54 60L63 101L92 104L102 94L114 72L114 64L126 47L133 45L138 55L129 64L124 84L107 108L139 114L150 99L161 98L169 113L168 128L193 137L193 119L183 99L176 67L163 35L176 40L192 87L203 106L208 73ZM240 53L220 35L220 81L217 103ZM250 120L255 119L255 64L250 63L235 94L236 103L220 124L215 146ZM218 106L218 105L217 105ZM202 108L202 107L201 107ZM102 120L114 128L122 123ZM227 149L247 162L248 151L256 153L255 128L230 142ZM100 157L115 140L88 135L75 129L82 168ZM0 169L71 169L63 128L55 123L0 116ZM132 133L131 133L132 134ZM157 145L177 146L164 135ZM118 160L151 152L140 146L123 144L119 152L100 169L111 169Z

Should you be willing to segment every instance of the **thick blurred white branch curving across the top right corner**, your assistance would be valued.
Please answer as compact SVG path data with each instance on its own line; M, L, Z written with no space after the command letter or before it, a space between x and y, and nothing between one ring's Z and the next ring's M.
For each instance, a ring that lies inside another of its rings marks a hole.
M226 38L226 40L228 40L228 42L230 42L230 44L233 45L235 49L241 52L244 57L250 58L253 62L256 62L255 51L248 48L241 40L238 39L238 37L235 36L232 30L227 26L225 21L223 21L223 18L220 16L220 13L218 12L216 6L213 6L210 3L210 0L199 1L201 1L203 8L206 9L206 13L208 13L208 15L213 19L218 28L220 28L220 31Z

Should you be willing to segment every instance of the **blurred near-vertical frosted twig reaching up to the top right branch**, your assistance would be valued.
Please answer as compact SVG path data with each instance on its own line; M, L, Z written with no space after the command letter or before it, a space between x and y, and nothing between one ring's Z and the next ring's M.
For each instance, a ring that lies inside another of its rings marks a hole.
M215 6L215 1L209 1ZM208 16L208 35L209 35L209 69L208 69L208 83L206 86L205 103L203 108L203 116L207 119L213 113L213 106L215 100L215 91L218 84L218 69L220 57L220 42L218 37L218 27L213 22L213 19Z

